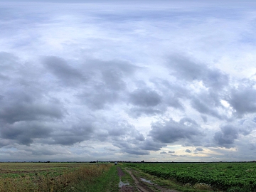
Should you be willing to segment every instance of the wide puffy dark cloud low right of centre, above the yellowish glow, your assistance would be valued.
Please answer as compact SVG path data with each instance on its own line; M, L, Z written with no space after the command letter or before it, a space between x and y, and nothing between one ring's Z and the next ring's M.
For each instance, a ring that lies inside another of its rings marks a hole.
M179 122L173 119L151 124L149 135L157 142L174 143L181 139L193 142L193 137L203 135L201 127L193 119L183 118Z

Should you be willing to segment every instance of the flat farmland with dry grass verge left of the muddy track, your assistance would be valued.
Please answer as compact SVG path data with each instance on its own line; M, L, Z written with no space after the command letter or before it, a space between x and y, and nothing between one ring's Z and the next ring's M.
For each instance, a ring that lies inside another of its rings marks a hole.
M116 183L112 164L0 163L0 191L105 191Z

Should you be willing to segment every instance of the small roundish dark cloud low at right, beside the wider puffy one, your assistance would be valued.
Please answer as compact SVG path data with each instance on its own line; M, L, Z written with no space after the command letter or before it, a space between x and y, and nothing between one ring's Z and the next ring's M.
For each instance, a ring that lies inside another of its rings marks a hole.
M215 132L213 139L218 146L230 148L233 146L235 139L238 139L238 129L233 125L225 125L220 128L221 131Z

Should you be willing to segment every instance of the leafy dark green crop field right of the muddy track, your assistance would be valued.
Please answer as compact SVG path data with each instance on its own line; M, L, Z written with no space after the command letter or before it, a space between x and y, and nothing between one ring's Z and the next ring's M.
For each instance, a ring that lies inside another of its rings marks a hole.
M141 163L127 166L183 186L214 191L256 191L256 163Z

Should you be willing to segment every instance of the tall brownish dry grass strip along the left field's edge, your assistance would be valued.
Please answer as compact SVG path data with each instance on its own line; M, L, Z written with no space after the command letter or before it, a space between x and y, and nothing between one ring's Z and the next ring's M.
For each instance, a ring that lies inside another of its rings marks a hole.
M62 192L77 191L77 185L94 184L97 178L110 171L110 164L90 164L75 171L65 172L58 176L51 174L34 176L23 175L16 178L0 178L1 192Z

